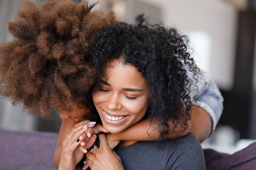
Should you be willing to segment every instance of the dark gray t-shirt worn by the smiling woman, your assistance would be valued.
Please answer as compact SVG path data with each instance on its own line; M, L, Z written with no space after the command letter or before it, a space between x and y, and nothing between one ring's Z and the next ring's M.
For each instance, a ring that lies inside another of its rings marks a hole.
M117 146L115 151L125 170L205 169L203 149L192 133L164 141L162 146L163 149L159 149L157 141L138 141L128 146Z

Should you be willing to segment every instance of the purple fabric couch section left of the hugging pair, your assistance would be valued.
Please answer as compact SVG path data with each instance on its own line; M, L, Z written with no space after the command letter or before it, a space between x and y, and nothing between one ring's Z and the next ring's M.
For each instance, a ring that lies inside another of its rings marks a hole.
M58 134L0 130L0 169L56 169L53 155Z

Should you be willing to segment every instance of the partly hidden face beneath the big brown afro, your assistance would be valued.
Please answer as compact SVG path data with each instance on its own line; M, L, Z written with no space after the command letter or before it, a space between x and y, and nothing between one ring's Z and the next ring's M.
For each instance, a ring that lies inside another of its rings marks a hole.
M76 122L81 122L84 120L84 115L87 115L90 110L86 106L77 106L77 103L74 103L73 108L70 111L60 110L60 118L61 119L73 119Z

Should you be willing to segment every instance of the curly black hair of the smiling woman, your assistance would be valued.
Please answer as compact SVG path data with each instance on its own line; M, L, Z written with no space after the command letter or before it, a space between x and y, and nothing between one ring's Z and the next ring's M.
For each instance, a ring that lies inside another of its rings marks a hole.
M181 133L175 131L179 123L188 128L192 100L189 93L199 69L190 56L187 36L180 35L175 28L148 24L144 14L135 21L136 24L116 22L94 37L91 57L98 75L95 84L108 61L119 59L135 66L150 86L151 104L146 118L159 118L161 141L170 130L170 118L174 132ZM188 77L188 72L193 78Z

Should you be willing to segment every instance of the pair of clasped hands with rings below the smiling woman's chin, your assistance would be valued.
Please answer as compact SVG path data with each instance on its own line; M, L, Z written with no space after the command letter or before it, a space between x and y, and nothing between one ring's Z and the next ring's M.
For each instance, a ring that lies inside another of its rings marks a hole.
M85 120L85 121L76 123L76 125L71 129L71 131L69 132L70 138L66 137L65 140L63 141L59 169L75 169L76 165L83 159L84 154L87 153L86 149L89 149L94 144L96 139L95 134L98 134L99 132L107 132L107 130L104 129L102 125L100 124L95 125L95 122L93 123L94 124L92 124L92 122L88 120ZM102 135L105 138L102 138ZM115 142L112 141L111 148L113 149L118 144L118 142L119 141L115 141ZM111 148L108 145L106 136L104 134L100 134L99 150L104 152L100 153L96 151L95 155L92 155L91 153L87 153L91 159L86 159L86 165L83 167L83 169L87 168L88 166L90 166L91 169L101 169L99 168L101 167L99 165L109 164L107 162L114 163L113 166L109 166L109 167L113 167L110 169L114 169L115 167L120 165L122 167L122 162L120 158L114 151L111 150ZM101 159L99 155L102 155L102 156L105 155L104 156L105 159ZM92 163L92 161L90 160L92 160L93 158L97 158L97 159L95 159L95 161L93 161ZM113 160L116 160L116 161L113 162ZM108 168L106 167L103 169L108 169Z

